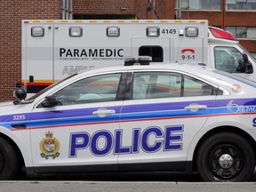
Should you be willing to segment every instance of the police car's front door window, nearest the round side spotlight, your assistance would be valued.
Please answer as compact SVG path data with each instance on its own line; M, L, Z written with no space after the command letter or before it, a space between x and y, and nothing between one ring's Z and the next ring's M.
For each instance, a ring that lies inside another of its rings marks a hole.
M91 76L56 92L61 105L116 100L121 74Z

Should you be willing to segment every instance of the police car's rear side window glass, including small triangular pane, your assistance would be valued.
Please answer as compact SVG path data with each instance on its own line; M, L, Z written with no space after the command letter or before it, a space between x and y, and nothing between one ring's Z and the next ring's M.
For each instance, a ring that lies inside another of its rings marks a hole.
M207 96L216 95L217 91L211 84L179 73L134 73L132 100Z

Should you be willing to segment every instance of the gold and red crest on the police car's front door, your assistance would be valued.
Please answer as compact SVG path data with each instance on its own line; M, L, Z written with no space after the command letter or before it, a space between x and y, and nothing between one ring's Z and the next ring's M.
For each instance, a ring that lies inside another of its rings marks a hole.
M60 156L60 142L53 137L53 133L50 131L45 133L45 138L41 140L39 146L42 151L40 156L45 159L48 159L49 157L52 157L52 159L54 159Z

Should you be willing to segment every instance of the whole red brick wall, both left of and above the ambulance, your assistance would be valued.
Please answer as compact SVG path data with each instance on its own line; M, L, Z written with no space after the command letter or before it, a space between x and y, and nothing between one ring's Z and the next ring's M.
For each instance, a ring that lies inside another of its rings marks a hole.
M0 102L13 100L15 84L21 80L21 20L60 20L60 3L61 0L1 0ZM148 0L73 0L73 14L173 19L173 0L155 0L156 12L147 12L148 5Z

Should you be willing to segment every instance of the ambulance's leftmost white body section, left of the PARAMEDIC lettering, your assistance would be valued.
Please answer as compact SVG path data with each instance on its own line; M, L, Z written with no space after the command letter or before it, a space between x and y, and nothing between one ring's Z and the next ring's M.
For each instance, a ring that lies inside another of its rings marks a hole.
M22 21L22 84L36 93L53 83L53 28L44 21Z

